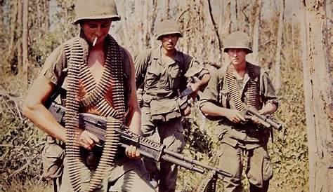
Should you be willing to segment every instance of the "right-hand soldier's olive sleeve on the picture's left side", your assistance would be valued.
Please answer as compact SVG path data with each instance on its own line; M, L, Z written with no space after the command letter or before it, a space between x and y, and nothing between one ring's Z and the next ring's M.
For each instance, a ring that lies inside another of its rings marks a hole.
M200 97L200 107L202 107L207 102L212 102L219 105L219 91L221 86L221 71L216 70L211 74L211 78L208 82L207 87L204 89Z

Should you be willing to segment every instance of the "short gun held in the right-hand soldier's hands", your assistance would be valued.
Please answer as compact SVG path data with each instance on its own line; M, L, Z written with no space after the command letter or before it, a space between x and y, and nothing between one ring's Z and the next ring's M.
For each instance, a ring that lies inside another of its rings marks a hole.
M259 119L259 123L264 125L266 128L275 128L276 130L282 129L282 124L276 122L271 116L265 116L259 114L259 111L254 107L249 107L244 110L244 118L251 119L253 116L256 116Z

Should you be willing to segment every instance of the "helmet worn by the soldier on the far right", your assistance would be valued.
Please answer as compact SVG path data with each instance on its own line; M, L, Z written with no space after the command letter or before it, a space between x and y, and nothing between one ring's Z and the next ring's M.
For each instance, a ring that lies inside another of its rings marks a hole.
M249 36L243 32L232 32L226 37L223 51L228 52L230 48L243 48L247 53L252 53L252 43Z

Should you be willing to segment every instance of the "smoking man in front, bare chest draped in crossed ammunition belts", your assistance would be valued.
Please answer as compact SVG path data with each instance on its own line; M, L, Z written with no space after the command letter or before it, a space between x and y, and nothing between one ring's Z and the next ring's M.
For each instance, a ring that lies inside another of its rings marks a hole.
M96 161L103 159L103 156L100 157L101 150L96 146L99 139L79 128L79 112L104 116L108 123L112 116L129 125L132 132L140 134L141 111L136 99L131 55L108 34L112 21L120 20L115 2L77 0L75 14L72 23L79 25L79 34L55 48L48 56L23 107L25 116L38 128L66 142L64 165L57 163L64 156L60 146L45 147L48 160L59 157L48 166L51 173L47 174L59 177L60 191L155 191L148 181L142 160L138 159L140 153L134 146L126 148L127 157L117 154L114 165L96 170ZM44 107L56 90L60 90L61 100L67 108L65 128ZM108 124L109 127L112 128L112 125ZM48 137L50 144L55 143L52 137ZM57 169L54 170L54 167ZM97 172L107 177L100 178ZM96 175L101 184L91 179L91 174Z

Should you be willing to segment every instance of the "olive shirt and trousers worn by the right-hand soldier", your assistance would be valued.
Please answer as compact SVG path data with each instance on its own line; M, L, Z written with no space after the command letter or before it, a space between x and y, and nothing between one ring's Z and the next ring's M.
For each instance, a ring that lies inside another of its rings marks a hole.
M247 62L247 67L254 69L255 74L250 77L245 74L242 82L237 82L237 90L242 95L242 102L247 103L249 95L249 81L256 82L257 104L256 109L261 109L263 103L273 102L278 104L278 97L275 95L274 88L268 73ZM231 100L230 90L226 81L226 68L222 67L211 75L211 79L204 90L200 106L205 102L213 102L219 107L236 109ZM233 74L233 78L235 75ZM267 142L270 131L259 128L254 123L235 124L228 118L215 118L219 123L215 128L216 135L220 138L220 167L226 172L233 174L232 178L226 179L226 191L241 191L242 174L242 152L247 156L246 173L251 184L263 187L263 181L268 181L272 176L272 167L267 151Z

